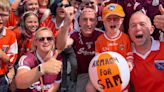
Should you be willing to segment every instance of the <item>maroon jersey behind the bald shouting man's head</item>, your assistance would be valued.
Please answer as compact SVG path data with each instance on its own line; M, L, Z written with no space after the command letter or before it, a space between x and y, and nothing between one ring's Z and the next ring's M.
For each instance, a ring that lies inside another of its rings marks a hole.
M136 2L138 2L138 4L136 4ZM122 5L126 13L126 16L124 19L124 22L125 22L124 26L126 29L125 32L127 33L128 31L129 19L134 12L144 9L146 14L153 21L154 16L160 14L159 4L162 4L164 6L164 0L159 0L159 2L155 4L153 3L153 0L124 0Z

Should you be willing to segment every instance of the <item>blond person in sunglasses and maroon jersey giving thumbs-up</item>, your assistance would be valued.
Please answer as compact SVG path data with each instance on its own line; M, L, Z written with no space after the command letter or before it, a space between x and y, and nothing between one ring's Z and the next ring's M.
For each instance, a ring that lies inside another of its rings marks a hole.
M62 63L56 59L52 31L41 27L33 40L33 51L19 60L16 75L17 92L56 92L60 85Z

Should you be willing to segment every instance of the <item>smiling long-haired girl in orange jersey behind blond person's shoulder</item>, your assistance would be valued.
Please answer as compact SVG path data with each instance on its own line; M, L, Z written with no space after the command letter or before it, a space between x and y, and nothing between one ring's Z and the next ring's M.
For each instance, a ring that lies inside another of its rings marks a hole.
M13 30L18 40L18 59L21 55L31 50L32 40L38 27L39 18L37 14L33 12L25 12L21 17L20 27Z

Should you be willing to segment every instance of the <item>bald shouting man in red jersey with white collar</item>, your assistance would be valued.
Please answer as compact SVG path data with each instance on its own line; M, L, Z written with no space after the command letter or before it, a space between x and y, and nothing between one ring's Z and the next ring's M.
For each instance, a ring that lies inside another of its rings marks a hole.
M164 89L164 42L154 40L153 31L148 16L140 11L131 16L128 32L134 43L131 82L135 92L162 92Z

